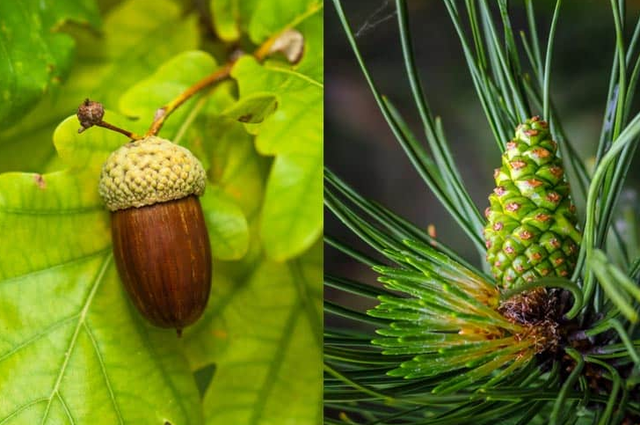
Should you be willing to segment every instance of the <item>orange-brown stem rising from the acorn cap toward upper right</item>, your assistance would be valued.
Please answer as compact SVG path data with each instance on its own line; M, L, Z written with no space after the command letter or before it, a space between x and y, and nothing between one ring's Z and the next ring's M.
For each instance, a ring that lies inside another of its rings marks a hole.
M292 30L285 30L278 34L275 34L268 38L264 43L262 43L252 54L252 56L258 61L264 61L269 55L275 53L277 51L281 51L282 46L278 49L274 50L274 46L277 44L276 42L280 40L282 37L289 36L289 33ZM231 56L227 63L225 63L222 67L216 69L213 73L207 75L191 87L187 88L185 91L180 93L177 97L172 99L169 103L162 106L156 111L155 117L153 118L153 122L149 127L149 130L145 134L144 137L156 136L164 122L169 118L169 115L173 113L176 109L178 109L183 103L189 100L194 95L198 94L198 92L205 90L211 86L214 86L226 79L231 75L231 70L233 69L233 65L236 63L240 57L244 54L242 52L235 53ZM299 58L298 58L299 59Z

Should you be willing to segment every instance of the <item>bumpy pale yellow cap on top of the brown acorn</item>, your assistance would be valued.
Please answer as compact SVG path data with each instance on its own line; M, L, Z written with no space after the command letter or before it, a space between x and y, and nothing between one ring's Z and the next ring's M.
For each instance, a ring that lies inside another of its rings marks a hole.
M204 193L207 177L186 148L151 136L127 143L102 166L100 196L111 211Z

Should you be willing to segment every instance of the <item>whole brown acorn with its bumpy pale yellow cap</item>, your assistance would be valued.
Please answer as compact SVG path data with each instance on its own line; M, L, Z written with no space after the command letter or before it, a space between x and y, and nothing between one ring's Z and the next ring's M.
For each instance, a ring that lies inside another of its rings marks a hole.
M211 289L198 199L205 185L202 164L188 149L155 136L113 152L100 175L124 287L149 322L178 336L202 316Z

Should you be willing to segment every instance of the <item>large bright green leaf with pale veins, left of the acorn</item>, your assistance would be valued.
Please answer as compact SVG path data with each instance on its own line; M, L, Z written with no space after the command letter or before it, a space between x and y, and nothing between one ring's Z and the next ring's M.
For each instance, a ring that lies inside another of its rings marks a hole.
M0 175L0 423L200 425L173 332L120 284L97 176Z

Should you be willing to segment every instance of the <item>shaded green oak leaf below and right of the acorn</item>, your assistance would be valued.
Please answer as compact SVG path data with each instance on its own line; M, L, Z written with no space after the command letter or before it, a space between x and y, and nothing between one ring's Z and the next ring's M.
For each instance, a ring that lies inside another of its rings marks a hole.
M223 279L212 308L186 335L194 368L215 362L207 425L321 421L322 246L284 263L263 259Z

